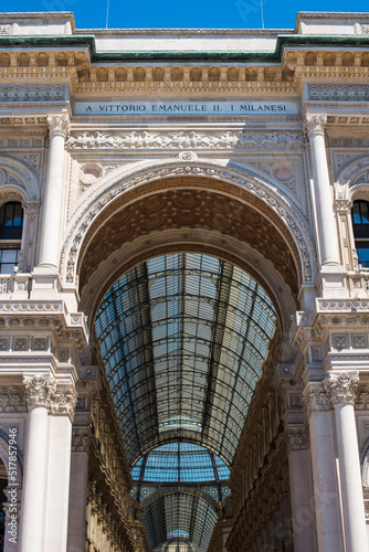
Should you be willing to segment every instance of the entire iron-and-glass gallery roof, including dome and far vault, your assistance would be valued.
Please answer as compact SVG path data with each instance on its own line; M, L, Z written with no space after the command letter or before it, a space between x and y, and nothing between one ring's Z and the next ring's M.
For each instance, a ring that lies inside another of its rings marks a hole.
M150 550L207 550L275 328L256 280L203 254L141 263L103 299L95 331Z

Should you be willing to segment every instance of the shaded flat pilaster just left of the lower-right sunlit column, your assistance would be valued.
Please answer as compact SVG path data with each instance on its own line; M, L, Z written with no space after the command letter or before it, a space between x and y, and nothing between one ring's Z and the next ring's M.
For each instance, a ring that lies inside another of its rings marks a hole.
M308 383L304 399L309 421L318 550L319 552L342 552L330 400L321 382Z

